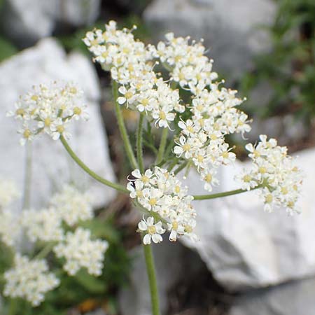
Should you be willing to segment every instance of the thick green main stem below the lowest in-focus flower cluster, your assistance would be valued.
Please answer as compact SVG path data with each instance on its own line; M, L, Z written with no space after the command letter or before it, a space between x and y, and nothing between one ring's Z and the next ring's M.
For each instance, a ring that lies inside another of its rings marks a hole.
M144 257L146 258L146 271L151 292L152 315L160 315L158 283L155 276L155 265L151 245L144 246Z

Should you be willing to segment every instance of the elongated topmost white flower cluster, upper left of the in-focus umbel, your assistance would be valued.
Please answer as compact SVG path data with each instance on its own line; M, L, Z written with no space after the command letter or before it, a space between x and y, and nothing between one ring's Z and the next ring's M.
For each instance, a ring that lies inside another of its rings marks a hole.
M134 39L129 29L116 29L116 22L106 25L106 31L89 31L83 39L94 60L111 70L113 80L121 86L117 101L130 109L145 112L155 120L156 127L169 127L176 112L183 113L179 91L153 71L153 55L144 43Z

